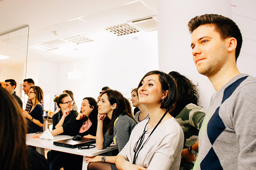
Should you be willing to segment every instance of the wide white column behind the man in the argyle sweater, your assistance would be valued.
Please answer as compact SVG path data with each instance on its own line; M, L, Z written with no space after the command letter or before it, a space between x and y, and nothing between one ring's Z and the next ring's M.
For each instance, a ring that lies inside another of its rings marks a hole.
M201 106L205 110L215 92L207 77L197 72L192 60L191 35L187 23L196 15L219 14L231 18L230 0L158 0L159 69L177 71L198 82Z

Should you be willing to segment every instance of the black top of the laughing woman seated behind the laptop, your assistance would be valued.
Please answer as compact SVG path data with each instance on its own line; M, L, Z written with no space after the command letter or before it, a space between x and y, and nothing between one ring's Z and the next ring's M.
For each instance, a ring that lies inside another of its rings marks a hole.
M97 118L95 118L95 120L91 122L92 123L91 127L88 130L86 130L83 133L79 133L79 130L80 130L82 124L84 124L86 120L87 120L86 116L84 118L82 118L81 120L75 119L75 121L69 128L69 135L70 136L80 135L83 137L85 135L91 134L92 136L96 136L97 124L98 124Z

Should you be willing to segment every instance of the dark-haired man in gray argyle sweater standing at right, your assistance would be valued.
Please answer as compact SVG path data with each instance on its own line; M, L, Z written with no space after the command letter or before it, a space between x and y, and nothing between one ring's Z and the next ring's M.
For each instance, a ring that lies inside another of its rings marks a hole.
M194 170L254 170L256 78L237 68L240 30L234 21L215 14L192 18L188 28L197 71L216 90L199 132Z

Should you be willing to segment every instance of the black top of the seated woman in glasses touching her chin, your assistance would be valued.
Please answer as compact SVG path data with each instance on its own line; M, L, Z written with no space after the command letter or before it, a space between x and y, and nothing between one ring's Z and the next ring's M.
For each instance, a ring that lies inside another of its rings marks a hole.
M69 115L65 118L63 127L63 133L65 135L69 135L69 127L73 124L75 118L77 117L77 111L71 110ZM60 110L58 113L53 115L53 130L56 129L55 126L59 123L59 120L62 118L62 111Z

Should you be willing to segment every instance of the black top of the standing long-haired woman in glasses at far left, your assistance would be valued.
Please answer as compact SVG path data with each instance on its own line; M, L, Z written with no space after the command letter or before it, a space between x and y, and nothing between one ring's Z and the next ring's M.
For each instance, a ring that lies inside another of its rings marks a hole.
M32 116L32 118L39 120L39 122L43 124L43 106L41 104L37 104L35 108L32 110L32 112L30 112L29 114ZM43 132L43 127L37 126L29 119L27 119L27 125L28 134Z

